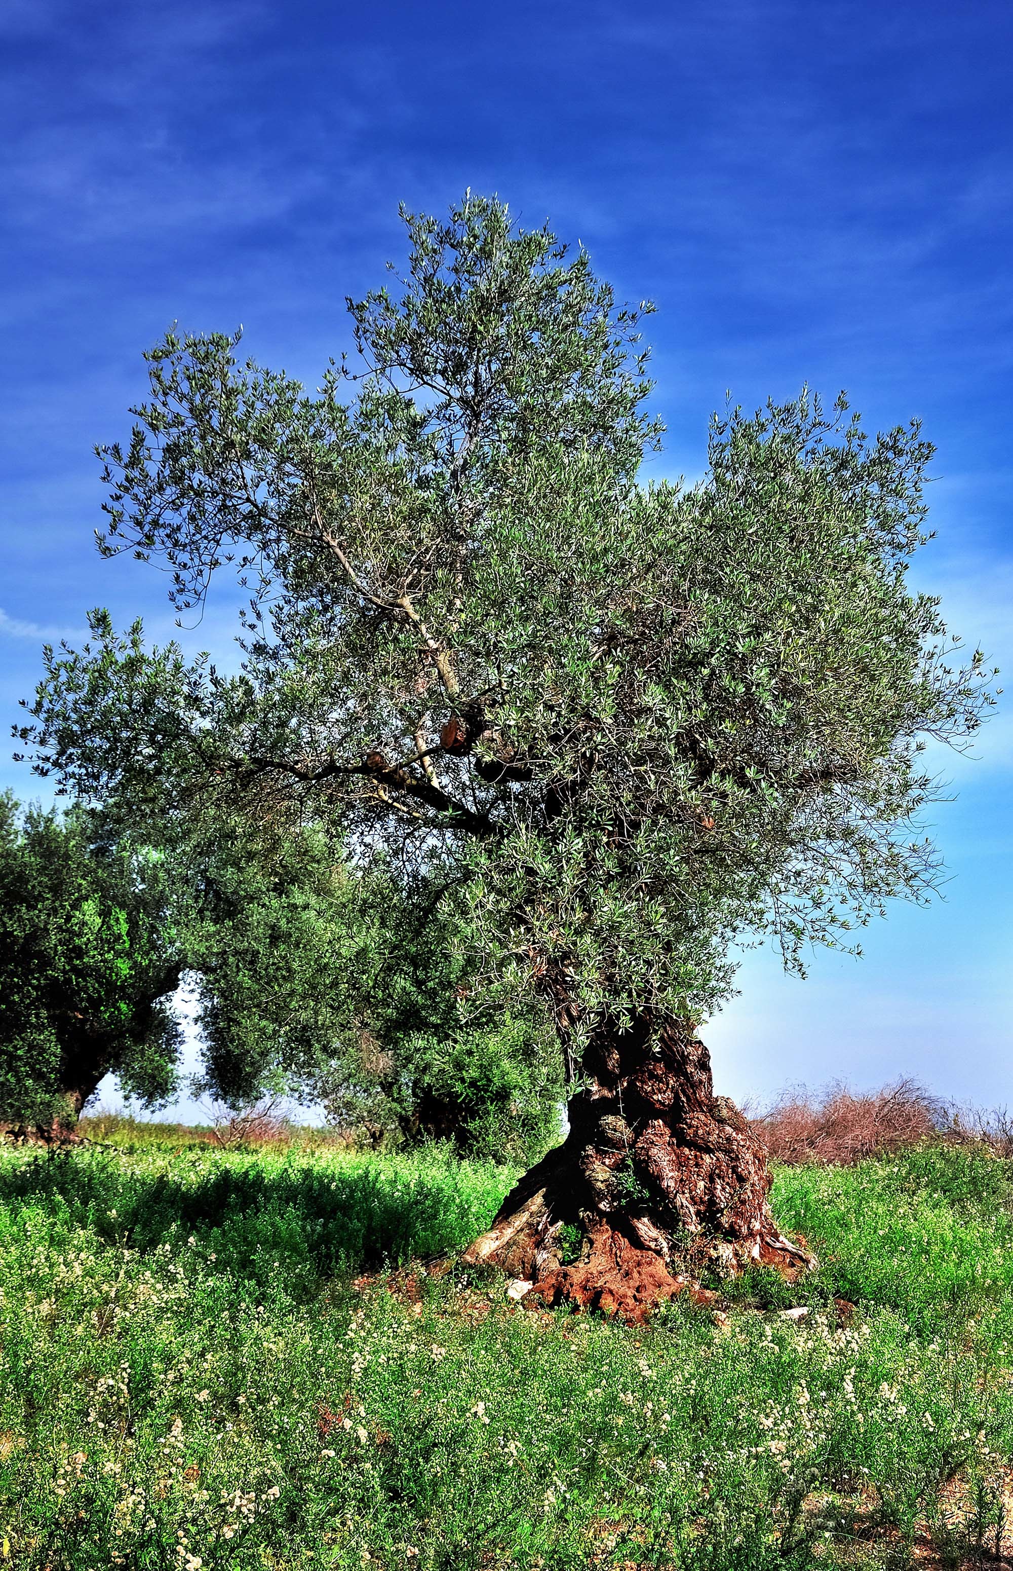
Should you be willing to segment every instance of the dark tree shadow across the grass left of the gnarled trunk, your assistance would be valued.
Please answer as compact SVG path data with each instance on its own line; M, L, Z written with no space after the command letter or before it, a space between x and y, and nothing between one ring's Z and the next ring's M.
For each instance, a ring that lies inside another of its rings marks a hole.
M302 1296L335 1276L463 1249L512 1175L446 1155L298 1163L179 1153L162 1166L50 1152L0 1164L0 1229L86 1229L108 1244L214 1255Z

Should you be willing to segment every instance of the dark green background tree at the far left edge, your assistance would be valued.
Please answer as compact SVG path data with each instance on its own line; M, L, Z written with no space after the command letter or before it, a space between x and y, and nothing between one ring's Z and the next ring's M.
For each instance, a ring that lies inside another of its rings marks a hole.
M93 818L0 798L0 1120L75 1115L107 1070L149 1101L176 1084L181 976L157 856Z

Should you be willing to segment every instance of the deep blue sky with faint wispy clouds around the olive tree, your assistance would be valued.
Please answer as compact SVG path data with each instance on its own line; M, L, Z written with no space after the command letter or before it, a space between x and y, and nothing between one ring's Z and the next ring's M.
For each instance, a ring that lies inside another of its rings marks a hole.
M166 636L159 573L102 562L91 445L140 352L243 324L316 385L346 294L402 256L399 201L465 187L581 239L652 297L667 473L724 404L847 388L938 445L916 573L1005 669L1013 638L1013 8L942 0L641 5L6 0L0 13L0 721L91 605ZM228 603L185 641L223 650ZM39 786L9 762L20 795ZM912 1073L1011 1100L1013 729L941 757L950 883L806 983L751 954L711 1023L721 1089Z

